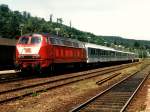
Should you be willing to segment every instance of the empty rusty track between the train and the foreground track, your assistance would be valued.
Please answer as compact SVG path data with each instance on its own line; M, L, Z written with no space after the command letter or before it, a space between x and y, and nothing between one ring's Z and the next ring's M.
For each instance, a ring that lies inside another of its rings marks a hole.
M135 64L138 64L138 63L135 63ZM23 98L25 96L32 95L34 93L44 92L49 89L53 89L53 88L60 87L63 85L67 85L67 84L71 84L71 83L78 82L81 80L96 77L96 76L99 76L102 74L121 70L121 69L130 67L130 66L133 66L135 64L110 67L108 69L92 71L92 72L87 72L87 73L78 74L78 75L76 74L76 75L66 76L63 78L56 78L54 80L49 79L46 81L42 81L40 83L35 83L35 84L31 84L31 85L25 85L25 86L20 86L20 87L16 87L16 88L3 90L3 91L0 91L0 103L2 104L5 102L8 102L8 101L12 101L12 100L16 100L18 98ZM111 76L111 78L112 78L112 76Z

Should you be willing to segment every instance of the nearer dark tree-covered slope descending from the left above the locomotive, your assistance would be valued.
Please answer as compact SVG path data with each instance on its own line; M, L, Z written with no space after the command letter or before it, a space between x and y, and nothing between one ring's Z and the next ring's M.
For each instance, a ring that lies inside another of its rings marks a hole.
M32 17L28 12L11 11L7 5L0 5L0 35L4 38L15 38L27 33L51 33L56 35L56 28L59 28L59 35L68 38L75 38L80 41L103 44L104 41L98 36L77 30L62 24L62 18L53 22L50 18L45 21L43 18ZM89 40L88 37L91 37Z

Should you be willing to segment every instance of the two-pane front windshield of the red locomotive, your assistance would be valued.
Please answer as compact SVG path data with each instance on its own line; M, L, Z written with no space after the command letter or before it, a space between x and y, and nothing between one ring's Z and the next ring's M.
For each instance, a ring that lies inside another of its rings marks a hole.
M41 37L38 36L24 36L19 39L18 44L39 44L41 43Z

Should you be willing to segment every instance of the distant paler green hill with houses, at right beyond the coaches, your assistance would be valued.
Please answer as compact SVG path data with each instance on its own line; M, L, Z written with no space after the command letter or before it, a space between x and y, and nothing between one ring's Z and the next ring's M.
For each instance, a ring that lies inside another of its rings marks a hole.
M147 57L150 53L150 41L125 39L117 36L101 36L107 46L116 49L135 52L139 57Z

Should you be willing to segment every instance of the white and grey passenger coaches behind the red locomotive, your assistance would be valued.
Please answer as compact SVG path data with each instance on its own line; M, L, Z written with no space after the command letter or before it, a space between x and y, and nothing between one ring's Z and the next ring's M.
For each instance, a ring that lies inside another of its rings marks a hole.
M134 61L136 54L115 50L113 48L85 43L87 63L113 62L113 61Z

